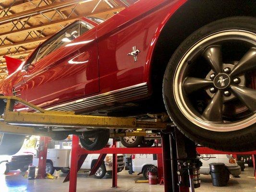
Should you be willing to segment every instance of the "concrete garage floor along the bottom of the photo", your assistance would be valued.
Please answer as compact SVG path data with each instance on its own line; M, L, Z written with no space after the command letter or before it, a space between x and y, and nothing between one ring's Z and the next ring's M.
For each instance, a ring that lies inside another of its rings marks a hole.
M55 172L57 180L27 180L20 171L12 171L9 175L0 175L0 192L68 192L69 183L62 183L66 174ZM245 168L241 178L231 178L225 187L214 187L210 175L201 175L201 187L196 192L256 192L256 181L253 168ZM112 189L109 175L99 180L88 178L88 173L79 173L77 192L163 192L161 185L134 183L143 180L141 176L129 175L127 171L118 174L118 185Z

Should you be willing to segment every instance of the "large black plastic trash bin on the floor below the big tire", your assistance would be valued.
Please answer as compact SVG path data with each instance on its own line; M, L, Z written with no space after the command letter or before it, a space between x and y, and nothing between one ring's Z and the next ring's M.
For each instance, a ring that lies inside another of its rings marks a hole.
M229 170L224 163L210 163L210 174L212 185L222 187L229 181Z

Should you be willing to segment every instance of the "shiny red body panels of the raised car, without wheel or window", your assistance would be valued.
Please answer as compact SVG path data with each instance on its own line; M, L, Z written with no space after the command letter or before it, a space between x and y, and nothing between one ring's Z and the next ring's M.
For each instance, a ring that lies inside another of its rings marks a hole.
M158 36L186 0L139 0L27 70L22 65L1 81L0 94L42 108L86 111L99 104L151 95L151 61ZM85 22L90 22L82 18ZM128 55L136 46L138 61Z

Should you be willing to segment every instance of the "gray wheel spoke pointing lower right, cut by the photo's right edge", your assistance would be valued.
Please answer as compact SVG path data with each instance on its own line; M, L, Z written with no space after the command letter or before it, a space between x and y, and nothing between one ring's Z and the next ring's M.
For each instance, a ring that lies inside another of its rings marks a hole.
M244 86L231 85L232 92L249 108L256 112L256 90Z

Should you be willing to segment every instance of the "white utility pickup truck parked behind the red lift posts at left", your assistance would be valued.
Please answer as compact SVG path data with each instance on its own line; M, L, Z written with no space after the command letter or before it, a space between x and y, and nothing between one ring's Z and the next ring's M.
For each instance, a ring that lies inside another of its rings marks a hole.
M81 169L90 171L96 163L99 154L88 154ZM107 154L104 159L104 164L98 168L95 173L95 177L98 179L103 178L106 173L112 174L112 154ZM47 150L47 161L46 161L46 172L53 174L55 170L61 170L63 173L68 173L71 164L71 149L48 149ZM124 168L123 155L117 155L117 171L121 172ZM38 165L38 159L34 158L33 165Z

